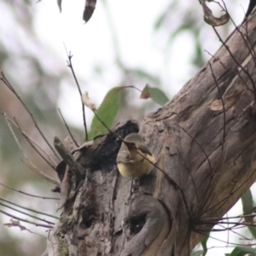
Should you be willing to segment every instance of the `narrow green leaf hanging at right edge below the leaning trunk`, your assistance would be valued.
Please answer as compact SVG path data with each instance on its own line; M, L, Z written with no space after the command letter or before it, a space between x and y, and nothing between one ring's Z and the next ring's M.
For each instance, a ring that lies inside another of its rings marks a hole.
M241 204L242 204L242 212L245 215L249 215L253 211L253 195L251 189L248 189L247 192L241 196ZM248 224L254 224L252 216L244 217L245 221ZM253 235L254 239L256 239L256 229L254 226L247 226L248 230L250 230L251 234Z

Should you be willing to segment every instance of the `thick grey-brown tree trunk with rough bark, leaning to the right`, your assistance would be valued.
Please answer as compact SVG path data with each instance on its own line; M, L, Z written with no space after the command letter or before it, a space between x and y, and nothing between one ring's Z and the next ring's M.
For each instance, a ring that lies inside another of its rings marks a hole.
M252 15L172 102L113 129L139 131L177 185L155 168L130 197L115 164L119 138L80 147L84 177L66 170L49 255L189 255L255 181L255 28Z

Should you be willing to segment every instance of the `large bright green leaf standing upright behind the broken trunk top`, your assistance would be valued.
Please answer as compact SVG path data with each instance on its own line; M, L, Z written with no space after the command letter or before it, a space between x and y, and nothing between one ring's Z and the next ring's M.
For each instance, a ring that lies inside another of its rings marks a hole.
M108 126L110 129L113 125L113 121L119 112L120 107L120 91L124 87L114 87L109 90L107 95L105 96L101 106L98 108L96 115L102 120L102 122ZM108 129L102 125L102 122L96 117L92 119L90 125L89 138L96 137L99 134L102 134Z

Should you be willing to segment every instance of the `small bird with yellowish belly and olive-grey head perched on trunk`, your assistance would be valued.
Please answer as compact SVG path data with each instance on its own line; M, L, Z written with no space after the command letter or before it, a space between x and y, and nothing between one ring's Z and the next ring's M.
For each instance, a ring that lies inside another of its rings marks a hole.
M154 155L138 133L124 139L116 158L119 172L124 177L141 177L154 169Z

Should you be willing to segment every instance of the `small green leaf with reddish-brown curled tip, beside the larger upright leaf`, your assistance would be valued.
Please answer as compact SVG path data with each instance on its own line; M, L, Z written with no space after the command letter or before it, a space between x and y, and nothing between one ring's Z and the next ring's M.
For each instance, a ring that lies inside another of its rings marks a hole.
M149 87L148 84L146 84L146 86L144 87L140 98L151 98L155 103L158 103L161 106L165 105L166 102L169 101L166 94L162 90L156 87Z

